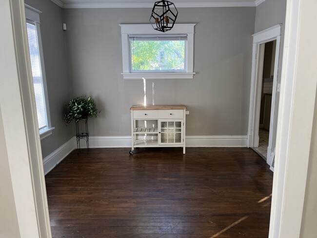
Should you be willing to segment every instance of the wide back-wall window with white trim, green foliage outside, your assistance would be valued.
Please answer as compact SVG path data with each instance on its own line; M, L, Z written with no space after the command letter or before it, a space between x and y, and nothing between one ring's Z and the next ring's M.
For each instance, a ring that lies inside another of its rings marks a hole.
M150 24L121 24L123 79L192 79L195 24L169 33Z

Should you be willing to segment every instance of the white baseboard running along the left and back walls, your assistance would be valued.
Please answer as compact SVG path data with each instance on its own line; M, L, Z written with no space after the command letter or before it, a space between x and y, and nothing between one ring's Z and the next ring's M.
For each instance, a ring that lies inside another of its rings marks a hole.
M80 147L86 142L80 140ZM131 136L89 137L89 148L131 147ZM247 136L186 136L186 147L247 147ZM43 159L45 175L77 148L73 137Z

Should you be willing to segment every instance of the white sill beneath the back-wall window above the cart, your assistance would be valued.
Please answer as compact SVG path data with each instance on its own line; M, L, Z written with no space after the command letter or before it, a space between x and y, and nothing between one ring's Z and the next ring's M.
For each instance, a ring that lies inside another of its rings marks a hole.
M193 79L192 73L121 73L123 79Z

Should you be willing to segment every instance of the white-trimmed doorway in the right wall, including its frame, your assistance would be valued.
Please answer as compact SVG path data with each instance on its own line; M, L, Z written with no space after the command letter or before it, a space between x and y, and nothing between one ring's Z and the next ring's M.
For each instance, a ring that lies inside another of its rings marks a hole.
M280 25L253 35L248 147L269 165L275 153Z

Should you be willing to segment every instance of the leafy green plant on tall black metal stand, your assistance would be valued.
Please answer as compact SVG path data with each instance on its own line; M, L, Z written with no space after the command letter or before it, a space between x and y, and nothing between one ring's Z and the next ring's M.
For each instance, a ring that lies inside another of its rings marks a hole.
M87 120L90 117L97 117L98 109L96 108L95 101L88 97L86 98L86 95L80 96L76 99L70 100L66 104L68 108L68 112L64 116L64 121L66 122L66 125L69 124L73 119L76 123L76 140L77 140L77 149L79 149L80 152L80 139L84 139L86 141L87 145L87 153L89 151L89 135L88 135L88 126L87 126ZM79 133L79 120L83 120L85 123L85 132Z

